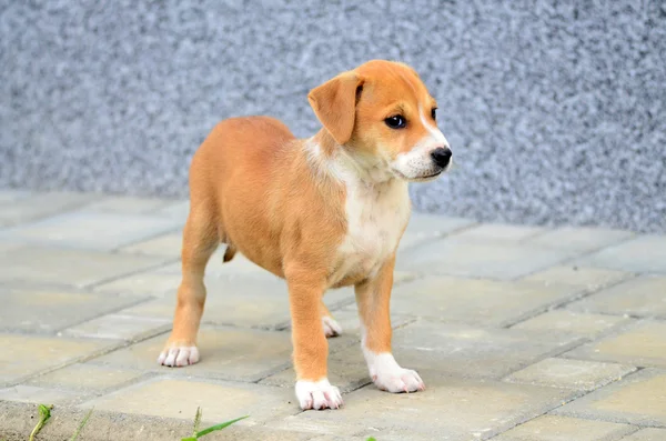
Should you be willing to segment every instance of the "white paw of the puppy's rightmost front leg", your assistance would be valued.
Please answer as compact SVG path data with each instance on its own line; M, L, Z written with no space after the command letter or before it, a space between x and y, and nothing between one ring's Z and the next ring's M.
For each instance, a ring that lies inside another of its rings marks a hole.
M401 368L391 353L372 354L369 367L372 381L383 391L398 393L425 390L418 373Z

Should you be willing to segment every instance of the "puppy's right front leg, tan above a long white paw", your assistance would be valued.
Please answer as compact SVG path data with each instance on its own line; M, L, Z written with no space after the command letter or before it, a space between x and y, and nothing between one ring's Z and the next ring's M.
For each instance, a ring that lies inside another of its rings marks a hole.
M355 287L361 318L361 347L370 377L389 392L414 392L425 389L418 373L403 369L391 353L391 289L395 254L384 262L377 274Z

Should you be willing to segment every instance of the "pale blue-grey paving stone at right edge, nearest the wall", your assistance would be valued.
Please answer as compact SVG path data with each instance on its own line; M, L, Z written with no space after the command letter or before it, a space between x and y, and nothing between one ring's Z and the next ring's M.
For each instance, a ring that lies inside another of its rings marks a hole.
M666 272L666 235L642 235L577 260L579 264L635 272Z

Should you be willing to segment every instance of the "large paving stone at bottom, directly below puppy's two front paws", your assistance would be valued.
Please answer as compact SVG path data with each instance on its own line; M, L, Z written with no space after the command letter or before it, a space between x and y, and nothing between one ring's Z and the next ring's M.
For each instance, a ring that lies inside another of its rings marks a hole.
M430 434L433 440L472 440L491 437L519 421L534 418L561 403L569 392L553 388L446 379L424 392L393 394L369 385L344 397L336 412L303 412L282 420L296 431L351 435L359 428L382 433ZM280 425L279 425L280 427ZM384 432L382 432L384 431Z

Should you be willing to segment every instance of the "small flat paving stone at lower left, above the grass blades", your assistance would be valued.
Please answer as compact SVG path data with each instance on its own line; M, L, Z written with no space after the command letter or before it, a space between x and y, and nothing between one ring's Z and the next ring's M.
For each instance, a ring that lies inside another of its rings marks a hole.
M108 368L91 363L75 363L31 379L27 384L79 392L102 392L137 380L142 375L143 372L141 371Z

